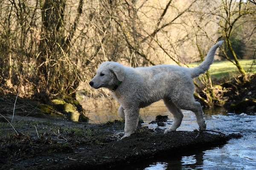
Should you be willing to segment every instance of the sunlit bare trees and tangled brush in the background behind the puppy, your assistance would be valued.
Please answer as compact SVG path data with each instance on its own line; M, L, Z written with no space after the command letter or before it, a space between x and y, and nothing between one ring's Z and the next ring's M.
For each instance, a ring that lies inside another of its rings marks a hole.
M239 59L255 58L255 24L247 0L0 0L0 94L90 96L101 62L186 67L218 40L215 59L245 77ZM195 84L212 105L209 73Z

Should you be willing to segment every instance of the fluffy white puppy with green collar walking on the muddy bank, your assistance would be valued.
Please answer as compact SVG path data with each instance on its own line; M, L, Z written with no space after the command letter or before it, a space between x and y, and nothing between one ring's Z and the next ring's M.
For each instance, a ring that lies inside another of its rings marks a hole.
M222 44L219 41L209 50L205 60L196 68L184 68L176 65L156 65L131 68L117 62L103 62L90 81L93 88L111 89L120 103L119 115L125 119L125 136L130 136L138 125L139 110L153 102L163 99L168 110L174 116L174 122L165 133L175 131L180 126L183 114L180 109L195 113L201 130L206 124L199 102L193 96L193 78L209 69L215 51Z

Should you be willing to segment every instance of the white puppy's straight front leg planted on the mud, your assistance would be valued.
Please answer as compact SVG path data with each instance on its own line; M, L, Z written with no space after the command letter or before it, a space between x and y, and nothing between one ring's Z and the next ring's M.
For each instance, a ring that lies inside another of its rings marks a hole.
M134 131L137 128L138 122L139 122L139 108L135 109L125 109L125 136L131 136L131 133L134 133Z

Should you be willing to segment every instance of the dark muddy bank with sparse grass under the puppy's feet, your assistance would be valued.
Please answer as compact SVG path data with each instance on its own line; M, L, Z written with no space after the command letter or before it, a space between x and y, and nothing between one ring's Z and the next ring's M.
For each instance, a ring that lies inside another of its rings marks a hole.
M209 149L239 137L188 131L166 135L161 129L138 126L136 133L119 140L124 129L120 121L101 125L24 121L15 129L18 134L9 124L0 124L0 169L108 169L152 157Z

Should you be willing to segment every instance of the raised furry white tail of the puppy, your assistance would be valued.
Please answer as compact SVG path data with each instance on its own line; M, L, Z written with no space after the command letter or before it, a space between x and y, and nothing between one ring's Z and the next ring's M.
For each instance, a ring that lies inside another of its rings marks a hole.
M198 65L198 67L192 68L192 70L190 70L192 78L198 77L200 74L203 74L205 71L209 70L210 65L213 62L215 52L216 52L217 48L222 45L222 43L223 43L223 40L221 40L221 41L217 42L215 45L213 45L212 48L210 48L204 61L200 65Z

